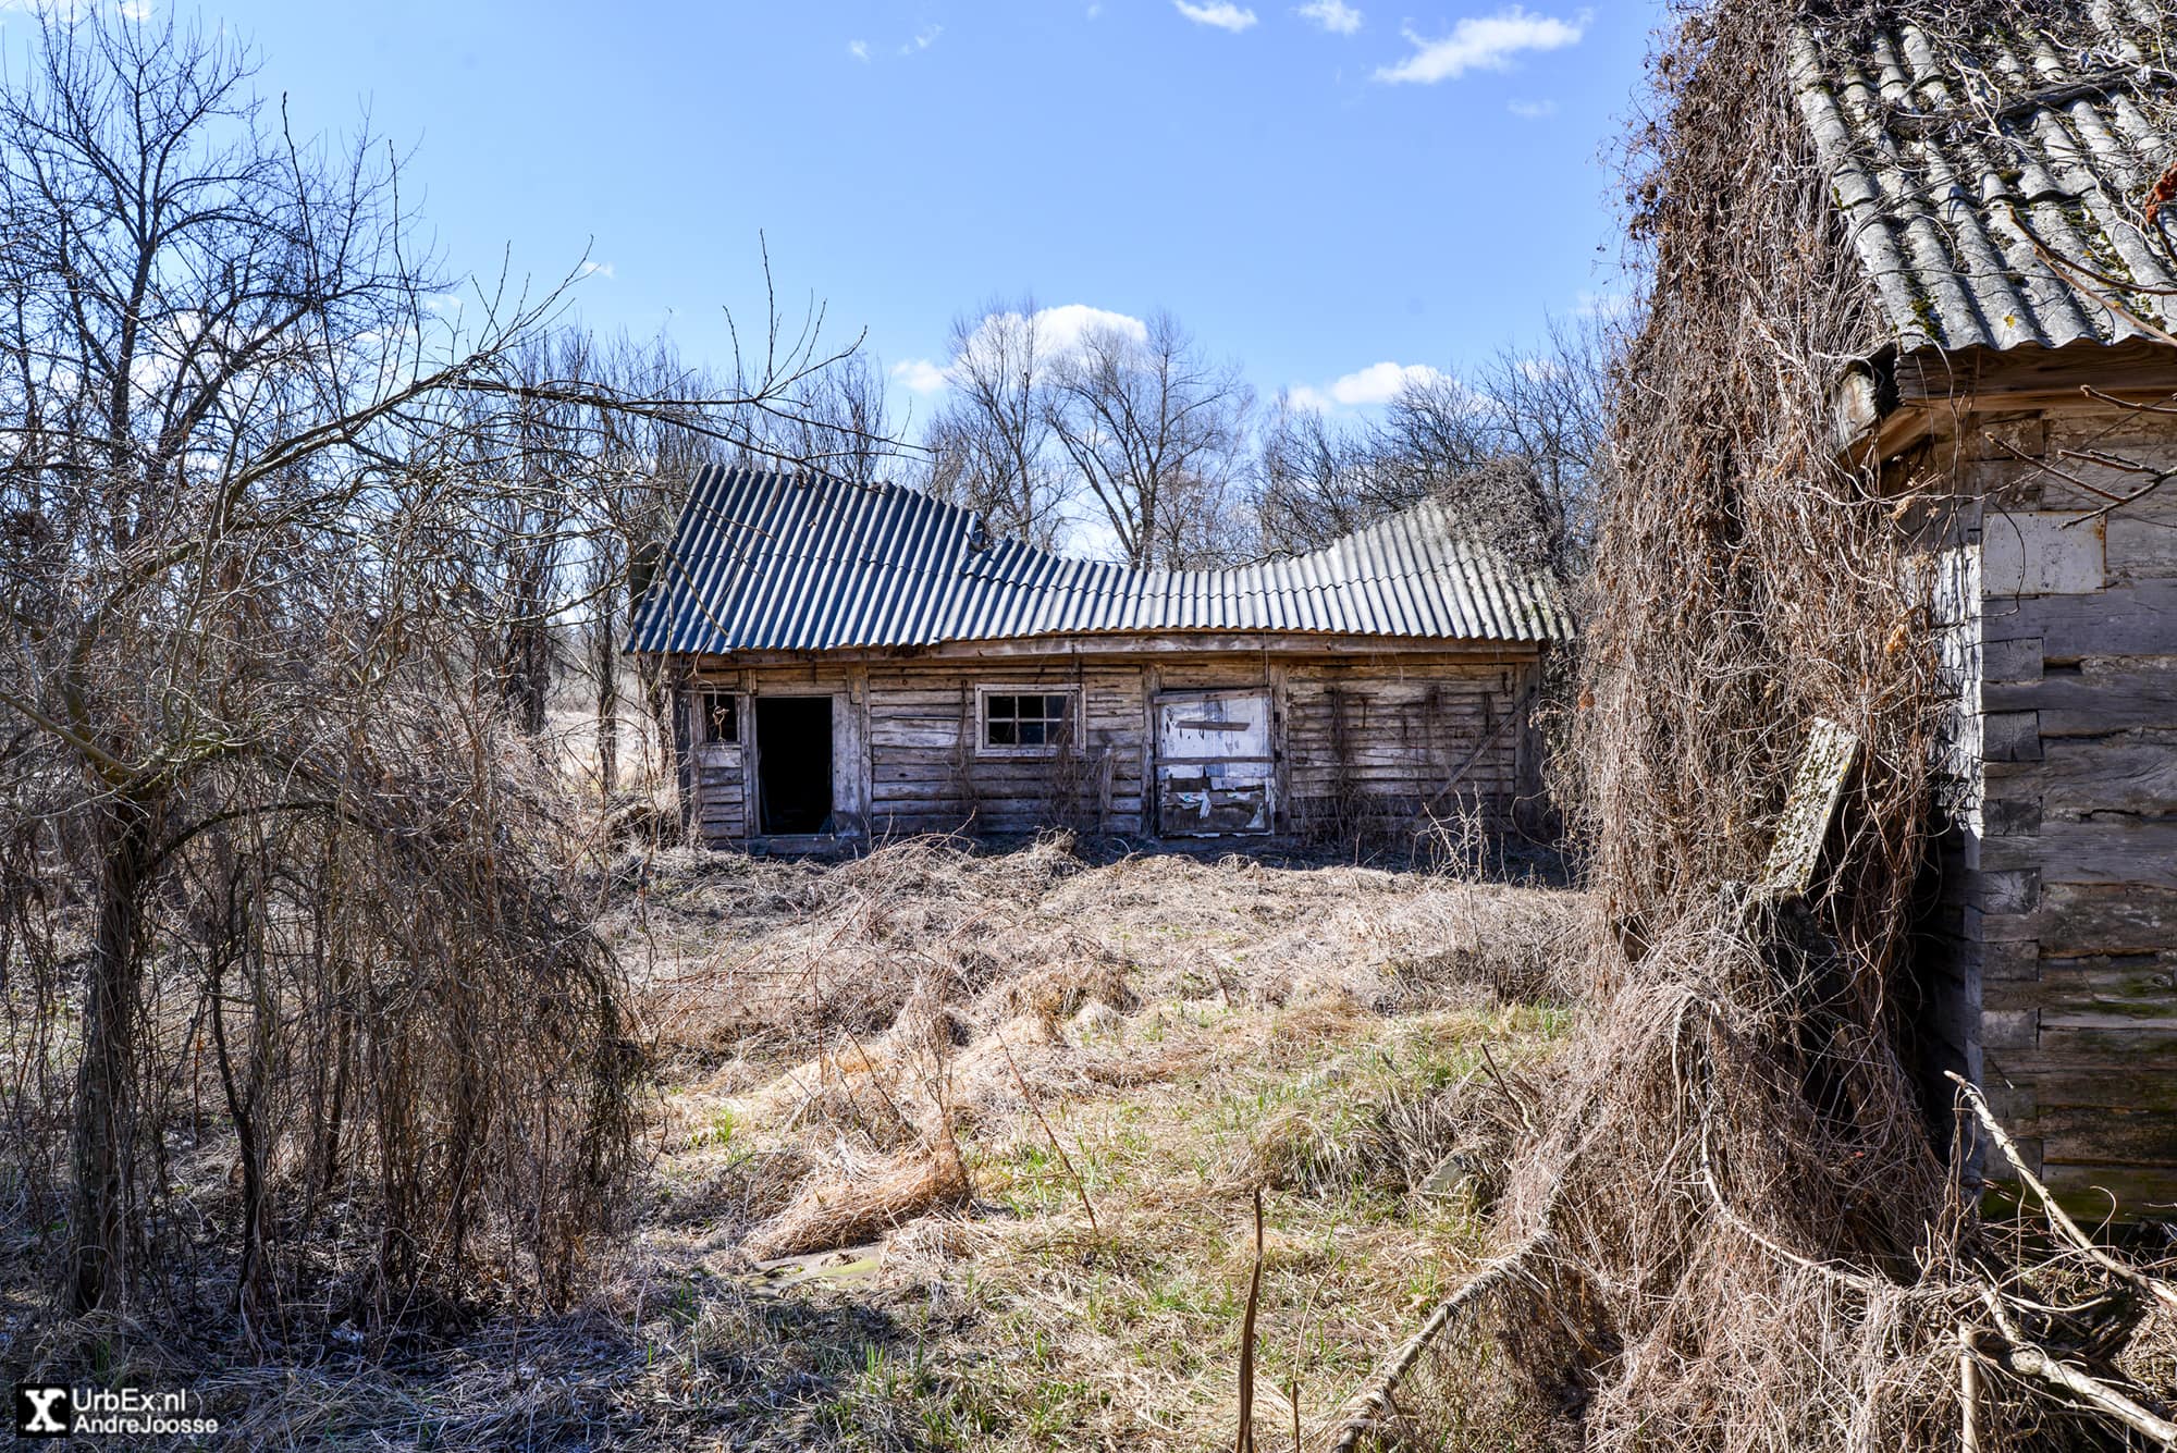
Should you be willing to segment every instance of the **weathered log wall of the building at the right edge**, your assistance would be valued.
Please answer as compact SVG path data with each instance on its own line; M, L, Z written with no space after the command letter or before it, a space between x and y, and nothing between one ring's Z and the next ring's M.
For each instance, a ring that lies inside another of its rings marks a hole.
M1979 1001L1970 1033L1951 1033L2053 1188L2168 1205L2177 496L2105 509L2040 465L2077 474L2077 452L2099 450L2177 468L2177 420L2086 402L1983 411L1938 446L1977 498L1979 676L1961 685L1979 696L1983 757L1946 840L1951 918L1931 955Z

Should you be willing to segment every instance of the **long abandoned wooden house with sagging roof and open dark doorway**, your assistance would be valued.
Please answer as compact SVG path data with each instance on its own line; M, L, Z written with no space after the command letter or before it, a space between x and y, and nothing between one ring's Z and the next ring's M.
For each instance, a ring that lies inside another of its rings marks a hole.
M636 613L714 846L1502 822L1539 794L1548 592L1422 505L1230 570L995 539L914 489L710 470Z

